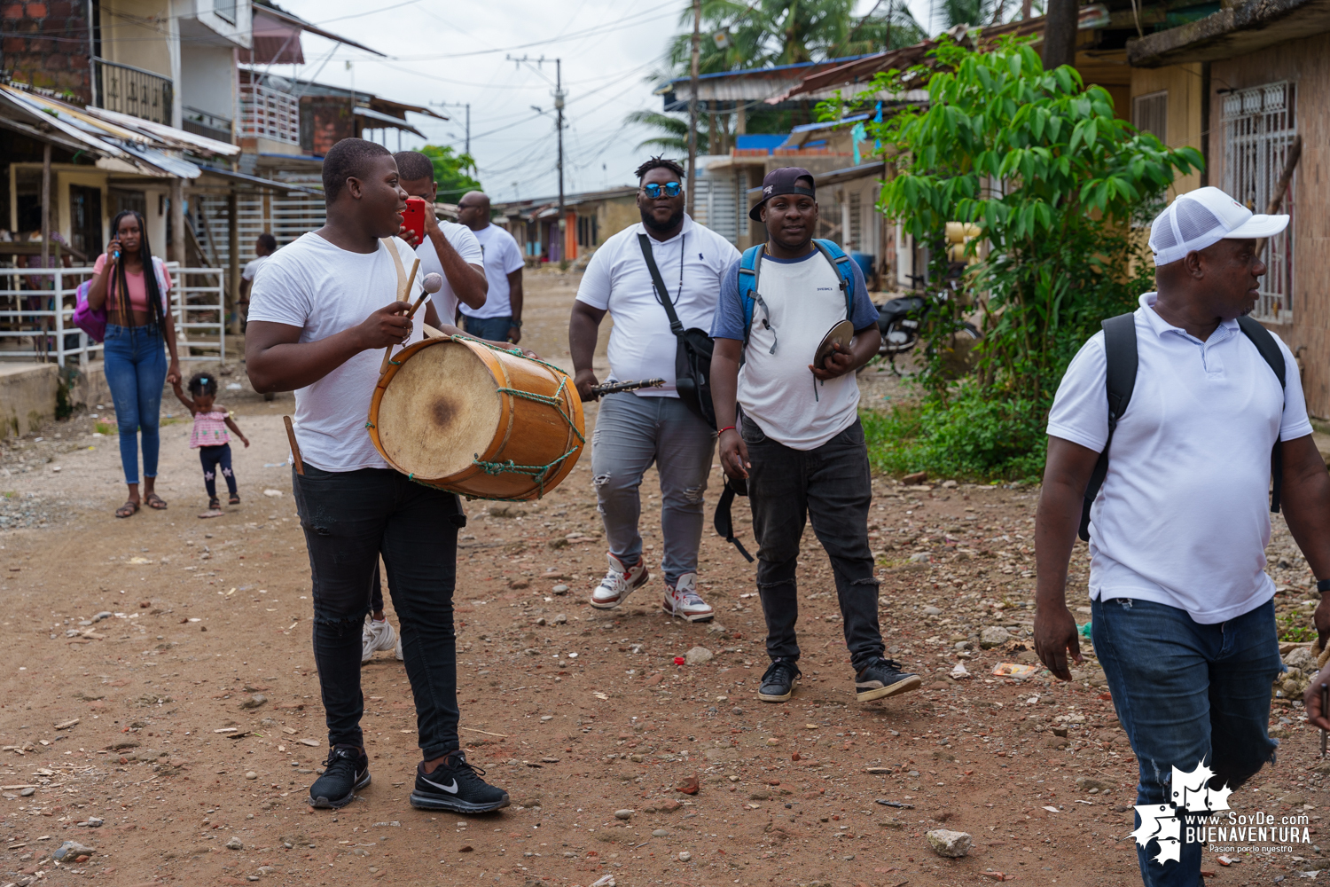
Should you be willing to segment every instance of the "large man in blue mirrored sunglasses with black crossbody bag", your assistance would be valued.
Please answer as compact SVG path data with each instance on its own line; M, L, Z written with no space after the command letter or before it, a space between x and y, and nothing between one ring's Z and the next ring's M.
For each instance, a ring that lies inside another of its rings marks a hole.
M645 234L670 302L684 328L706 328L721 293L721 277L738 250L684 213L684 169L653 157L637 168L637 209L642 221L601 245L583 274L568 323L568 347L583 400L597 384L592 371L596 335L609 311L610 382L665 379L658 388L608 395L592 436L592 475L609 543L609 572L591 605L612 609L646 582L638 491L656 463L661 480L661 535L666 613L689 621L714 616L697 593L697 549L702 504L712 469L716 432L678 398L674 386L677 339L642 253Z

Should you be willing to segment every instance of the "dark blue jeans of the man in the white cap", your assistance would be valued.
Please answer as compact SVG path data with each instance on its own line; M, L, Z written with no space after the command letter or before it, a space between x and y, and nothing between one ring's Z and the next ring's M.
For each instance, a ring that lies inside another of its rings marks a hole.
M1274 761L1278 742L1266 725L1283 661L1273 601L1198 625L1174 606L1119 597L1091 601L1091 620L1095 653L1140 762L1137 805L1172 803L1174 766L1192 773L1204 761L1216 773L1212 787L1237 789ZM1142 882L1196 887L1201 848L1184 842L1180 860L1161 866L1153 862L1158 842L1137 846Z

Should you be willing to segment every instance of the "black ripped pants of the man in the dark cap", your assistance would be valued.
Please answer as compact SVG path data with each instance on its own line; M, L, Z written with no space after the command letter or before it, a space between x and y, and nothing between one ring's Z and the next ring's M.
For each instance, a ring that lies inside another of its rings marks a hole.
M774 660L799 658L794 624L799 618L795 569L803 525L831 559L845 618L845 642L855 672L883 653L878 629L878 580L868 549L872 485L863 426L853 426L817 449L791 449L743 419L747 444L749 504L757 539L757 590L766 617L766 652Z

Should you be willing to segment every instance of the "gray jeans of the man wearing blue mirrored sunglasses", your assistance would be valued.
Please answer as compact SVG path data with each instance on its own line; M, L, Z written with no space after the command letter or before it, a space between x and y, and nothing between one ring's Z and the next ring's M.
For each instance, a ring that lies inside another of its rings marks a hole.
M702 541L702 504L712 471L716 432L678 398L613 394L600 403L591 443L591 469L609 553L624 564L642 555L637 521L642 475L652 463L661 479L662 569L673 585L697 572Z

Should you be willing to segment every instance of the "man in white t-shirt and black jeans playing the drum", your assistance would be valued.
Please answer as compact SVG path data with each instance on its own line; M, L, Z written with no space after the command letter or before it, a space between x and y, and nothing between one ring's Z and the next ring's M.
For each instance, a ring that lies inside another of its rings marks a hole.
M398 166L380 145L344 138L323 158L327 222L278 251L254 282L246 370L255 391L295 391L305 473L293 471L310 551L314 661L329 729L327 766L311 807L342 807L370 783L360 715L360 626L379 555L402 620L424 761L411 805L485 813L508 805L458 743L458 660L452 617L458 528L454 493L412 483L387 465L366 431L383 350L418 340L422 320L399 302L394 237L406 209ZM420 275L408 301L422 291ZM443 324L444 332L459 334Z

